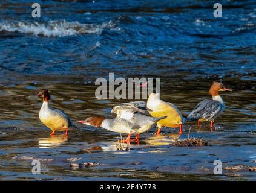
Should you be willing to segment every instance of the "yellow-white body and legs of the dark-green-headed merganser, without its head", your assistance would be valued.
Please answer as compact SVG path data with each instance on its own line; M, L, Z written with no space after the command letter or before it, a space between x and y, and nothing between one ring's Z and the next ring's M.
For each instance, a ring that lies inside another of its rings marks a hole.
M165 119L157 122L157 134L160 134L162 126L176 128L179 127L179 134L182 134L182 125L186 122L186 118L182 116L179 109L172 103L162 101L159 93L151 93L148 97L146 107L151 109L149 111L151 116L162 117Z

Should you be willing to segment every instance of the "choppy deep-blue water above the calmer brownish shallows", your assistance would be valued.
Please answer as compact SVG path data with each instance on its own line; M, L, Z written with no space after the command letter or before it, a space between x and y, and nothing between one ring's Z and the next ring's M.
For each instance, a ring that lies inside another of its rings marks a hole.
M255 1L221 1L222 18L215 1L38 2L34 19L28 1L1 1L1 82L107 72L255 81Z

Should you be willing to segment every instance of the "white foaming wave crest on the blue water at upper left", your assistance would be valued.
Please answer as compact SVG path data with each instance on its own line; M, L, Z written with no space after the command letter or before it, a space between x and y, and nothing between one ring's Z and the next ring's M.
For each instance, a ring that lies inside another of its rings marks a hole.
M2 21L0 31L33 34L34 36L62 37L76 34L101 33L103 29L118 30L112 21L103 24L81 24L79 22L49 21L45 24L25 21Z

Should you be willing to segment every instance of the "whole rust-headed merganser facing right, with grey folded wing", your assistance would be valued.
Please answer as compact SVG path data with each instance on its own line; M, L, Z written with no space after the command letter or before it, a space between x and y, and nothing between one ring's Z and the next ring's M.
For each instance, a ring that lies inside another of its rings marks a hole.
M197 125L200 122L210 121L211 127L214 125L214 119L219 116L225 109L225 103L222 97L218 95L219 91L232 91L232 89L226 89L222 83L213 82L209 90L209 94L212 95L212 100L203 100L194 110L188 115L188 120L197 121Z

